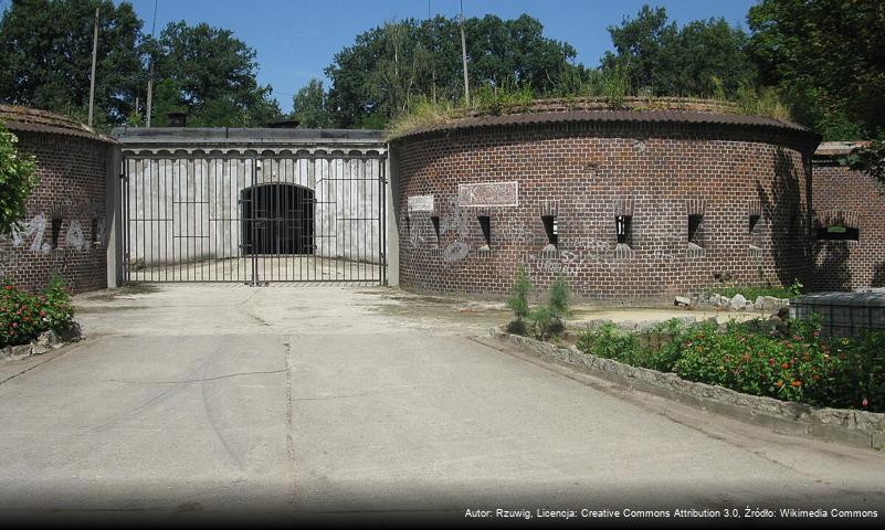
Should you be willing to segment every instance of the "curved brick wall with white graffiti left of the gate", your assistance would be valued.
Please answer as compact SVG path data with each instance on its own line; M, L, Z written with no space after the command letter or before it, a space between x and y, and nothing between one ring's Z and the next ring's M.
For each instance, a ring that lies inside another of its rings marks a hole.
M75 292L105 288L105 174L110 144L10 127L19 137L19 149L36 157L39 183L28 199L23 229L0 239L0 276L30 290L45 286L53 273ZM56 237L53 216L61 220Z

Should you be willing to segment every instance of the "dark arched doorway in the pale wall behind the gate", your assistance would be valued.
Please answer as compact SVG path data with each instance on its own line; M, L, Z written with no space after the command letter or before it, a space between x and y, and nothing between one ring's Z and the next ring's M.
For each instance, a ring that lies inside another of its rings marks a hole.
M313 190L297 184L255 184L240 197L244 254L314 253Z

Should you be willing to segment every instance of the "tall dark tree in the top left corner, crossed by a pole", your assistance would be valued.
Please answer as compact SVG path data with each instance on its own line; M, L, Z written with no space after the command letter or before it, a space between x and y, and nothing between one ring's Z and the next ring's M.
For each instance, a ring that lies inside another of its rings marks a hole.
M144 96L141 21L127 2L13 0L0 20L0 100L84 118L96 7L96 123L124 123Z

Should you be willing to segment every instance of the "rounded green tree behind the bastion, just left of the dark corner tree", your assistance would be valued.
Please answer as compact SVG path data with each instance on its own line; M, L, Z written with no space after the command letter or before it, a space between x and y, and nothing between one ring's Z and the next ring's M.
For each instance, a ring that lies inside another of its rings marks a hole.
M720 84L731 96L756 77L747 34L721 18L678 28L665 8L643 6L635 19L609 26L609 33L615 53L605 53L602 68L619 68L633 92L710 96Z

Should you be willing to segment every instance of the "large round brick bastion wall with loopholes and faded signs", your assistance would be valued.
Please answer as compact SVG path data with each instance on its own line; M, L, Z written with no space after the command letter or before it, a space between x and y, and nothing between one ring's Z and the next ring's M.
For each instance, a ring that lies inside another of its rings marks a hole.
M716 278L807 284L813 147L770 127L672 123L531 124L401 138L393 144L400 283L502 295L525 264L541 289L562 274L586 299L660 299ZM459 184L501 181L518 182L519 204L489 209L491 250L480 252L477 209L459 204ZM436 212L409 215L408 198L426 194ZM551 208L555 251L541 220ZM615 232L615 215L625 213L626 246ZM689 213L703 214L698 246L688 242Z

